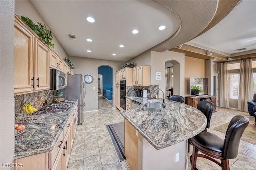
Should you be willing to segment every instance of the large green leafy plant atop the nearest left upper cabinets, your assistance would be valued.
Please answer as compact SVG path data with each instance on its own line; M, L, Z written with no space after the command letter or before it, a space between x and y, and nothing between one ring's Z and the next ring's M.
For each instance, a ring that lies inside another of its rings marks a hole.
M51 43L52 31L48 30L45 24L42 25L41 23L38 23L39 25L36 25L28 17L21 16L20 18L40 37L42 41L54 49L54 44Z

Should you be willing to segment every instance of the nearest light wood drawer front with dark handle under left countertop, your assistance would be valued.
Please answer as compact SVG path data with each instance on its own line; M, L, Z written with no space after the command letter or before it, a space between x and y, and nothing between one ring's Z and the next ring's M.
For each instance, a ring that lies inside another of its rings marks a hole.
M49 169L52 168L52 165L54 164L56 157L58 155L59 150L62 150L62 143L64 138L64 131L60 133L60 136L57 139L56 144L54 145L54 148L49 152Z

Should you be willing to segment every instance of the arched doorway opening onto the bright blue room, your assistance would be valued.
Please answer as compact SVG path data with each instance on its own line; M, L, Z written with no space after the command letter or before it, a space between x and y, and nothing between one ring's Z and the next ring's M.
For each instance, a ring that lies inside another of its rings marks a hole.
M106 65L99 66L98 74L102 75L98 77L98 94L99 92L102 92L103 98L106 98L108 101L112 101L113 68Z

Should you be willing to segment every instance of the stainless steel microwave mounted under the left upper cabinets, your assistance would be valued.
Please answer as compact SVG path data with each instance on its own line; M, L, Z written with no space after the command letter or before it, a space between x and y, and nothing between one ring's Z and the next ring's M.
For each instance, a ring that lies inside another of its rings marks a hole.
M50 69L50 90L60 90L66 88L66 73Z

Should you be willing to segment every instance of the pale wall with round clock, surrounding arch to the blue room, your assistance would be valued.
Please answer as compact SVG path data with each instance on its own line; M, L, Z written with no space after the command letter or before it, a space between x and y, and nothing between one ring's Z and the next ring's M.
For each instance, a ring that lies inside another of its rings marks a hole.
M83 111L98 110L98 67L102 65L110 66L113 68L113 96L116 96L116 71L122 68L124 62L109 61L100 59L90 59L84 57L70 57L74 62L75 74L91 74L94 77L94 81L91 84L86 84L86 97ZM95 87L95 90L93 88ZM116 98L112 100L113 107L116 107Z

